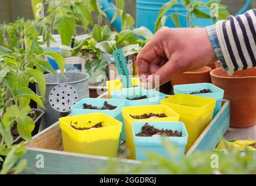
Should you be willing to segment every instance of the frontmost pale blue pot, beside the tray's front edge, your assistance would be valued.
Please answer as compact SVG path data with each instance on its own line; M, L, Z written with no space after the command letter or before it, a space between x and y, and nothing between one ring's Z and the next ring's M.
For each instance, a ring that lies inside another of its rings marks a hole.
M147 121L150 126L154 126L159 130L177 130L182 131L182 137L166 137L166 140L178 148L175 156L170 157L162 144L161 137L138 137L136 134L141 132L141 127L144 126L145 121L136 121L133 123L133 139L136 149L137 160L148 160L148 153L157 153L165 158L179 161L181 156L185 153L187 145L188 134L184 123L179 121Z

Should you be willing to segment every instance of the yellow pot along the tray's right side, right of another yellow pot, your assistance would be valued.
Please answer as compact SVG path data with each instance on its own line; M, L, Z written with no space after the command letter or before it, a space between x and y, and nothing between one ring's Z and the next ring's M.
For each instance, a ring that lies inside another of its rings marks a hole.
M176 94L162 99L162 105L168 105L180 115L189 133L186 152L194 144L202 131L212 120L216 99L204 98L195 95Z

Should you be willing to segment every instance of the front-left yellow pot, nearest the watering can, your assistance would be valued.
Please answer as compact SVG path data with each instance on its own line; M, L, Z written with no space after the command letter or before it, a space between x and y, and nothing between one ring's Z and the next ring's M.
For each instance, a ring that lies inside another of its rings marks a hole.
M101 128L76 130L70 126L78 122L79 127L93 127L102 122ZM117 157L118 143L122 123L104 113L61 117L59 126L62 130L64 151L88 155Z

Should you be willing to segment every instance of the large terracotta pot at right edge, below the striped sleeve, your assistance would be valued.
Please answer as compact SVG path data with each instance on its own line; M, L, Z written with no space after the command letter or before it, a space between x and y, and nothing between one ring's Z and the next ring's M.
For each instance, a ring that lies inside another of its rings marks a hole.
M211 71L212 83L225 90L231 101L231 127L252 127L256 124L256 68L236 71L228 76L222 68Z

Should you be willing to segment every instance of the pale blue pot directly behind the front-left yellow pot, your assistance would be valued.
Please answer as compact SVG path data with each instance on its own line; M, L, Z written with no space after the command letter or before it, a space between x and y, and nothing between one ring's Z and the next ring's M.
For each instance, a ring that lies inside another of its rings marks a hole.
M93 109L83 109L83 104L87 103L93 106L102 107L104 102L107 101L113 106L118 106L114 110L93 110ZM125 101L123 99L98 99L98 98L84 98L77 102L71 107L71 114L73 116L85 115L90 113L104 113L110 117L113 117L121 122L123 122L122 108L125 106ZM120 140L125 140L125 126L122 126L122 132L120 134ZM119 142L120 145L120 142Z

